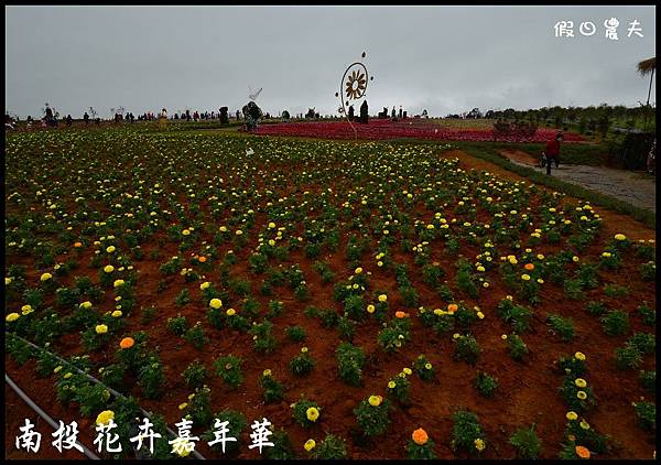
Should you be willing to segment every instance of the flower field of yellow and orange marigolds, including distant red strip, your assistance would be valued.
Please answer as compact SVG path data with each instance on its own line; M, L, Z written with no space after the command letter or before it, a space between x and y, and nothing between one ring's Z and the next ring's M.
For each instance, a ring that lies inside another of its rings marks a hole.
M490 138L357 127L366 139ZM353 137L345 122L259 133ZM654 241L455 154L10 134L6 370L78 421L88 447L95 422L115 418L127 456L139 405L163 432L191 419L207 458L651 458ZM25 408L8 423L23 418L34 422ZM248 445L263 418L274 446L260 455ZM238 439L225 452L208 445L219 421Z

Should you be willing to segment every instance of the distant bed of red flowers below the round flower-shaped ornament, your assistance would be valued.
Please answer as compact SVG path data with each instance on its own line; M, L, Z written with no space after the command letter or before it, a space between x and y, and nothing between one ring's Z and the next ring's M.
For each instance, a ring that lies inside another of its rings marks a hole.
M398 139L418 138L444 141L492 141L491 129L448 129L442 128L433 122L421 119L405 121L391 121L372 119L368 125L354 125L359 139ZM260 136L295 136L323 139L354 139L354 130L347 121L313 121L313 122L281 122L274 125L262 125L256 131ZM499 141L507 142L545 142L553 139L555 129L541 128L532 138L524 140L513 138ZM566 132L565 142L581 142L583 137Z

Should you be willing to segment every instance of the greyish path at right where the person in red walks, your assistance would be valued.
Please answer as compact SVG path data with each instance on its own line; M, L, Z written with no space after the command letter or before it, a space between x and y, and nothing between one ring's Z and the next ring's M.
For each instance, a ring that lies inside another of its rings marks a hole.
M539 166L539 160L530 153L521 150L503 150L500 154L512 163L532 167L539 172L544 171L543 167ZM641 173L600 166L561 164L559 169L553 166L551 175L619 198L633 206L657 212L655 182L653 179L641 175Z

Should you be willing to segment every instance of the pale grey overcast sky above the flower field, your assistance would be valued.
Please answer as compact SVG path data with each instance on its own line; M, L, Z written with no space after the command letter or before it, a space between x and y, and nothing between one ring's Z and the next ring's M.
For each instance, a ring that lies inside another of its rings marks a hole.
M605 37L613 17L618 41ZM574 21L573 39L555 37L560 20ZM627 36L633 20L643 37ZM6 7L6 109L234 111L250 86L271 113L335 113L364 51L370 113L636 106L654 37L654 7Z

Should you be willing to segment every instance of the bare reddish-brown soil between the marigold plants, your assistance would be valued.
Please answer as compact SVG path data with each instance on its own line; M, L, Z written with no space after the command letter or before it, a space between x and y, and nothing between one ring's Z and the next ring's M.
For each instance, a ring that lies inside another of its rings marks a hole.
M487 170L509 179L518 177L498 166L475 160L462 152L455 151L444 156L459 156L463 166L466 169ZM590 253L603 250L605 242L611 237L610 231L625 233L633 240L654 237L653 231L639 226L628 217L626 221L621 221L614 214L606 214L600 209L599 213L605 218L606 231L608 233L602 235L602 239L590 247ZM258 218L257 223L260 224L260 221L263 223L263 218ZM577 302L566 300L562 289L557 286L549 285L544 288L540 295L543 303L535 309L533 329L531 333L523 335L531 354L528 360L522 364L513 361L508 356L506 345L500 338L500 335L509 333L510 328L496 314L496 305L507 294L505 284L500 282L497 275L494 275L489 292L480 293L479 302L475 302L466 295L460 295L460 299L467 304L478 304L486 314L486 318L476 324L473 331L484 350L476 367L454 361L452 359L452 337L449 335L436 336L431 328L424 327L415 317L412 318L411 331L414 338L400 353L386 355L376 342L376 335L380 326L372 321L360 327L354 340L354 344L361 346L368 356L368 363L365 367L365 386L354 388L348 387L337 378L334 355L338 344L336 329L323 328L318 320L312 320L303 315L303 310L307 305L329 307L335 306L335 302L332 298L332 284L321 282L318 273L311 268L313 261L306 259L302 252L292 252L284 266L299 263L304 271L311 295L311 300L305 303L299 302L294 299L292 292L284 288L273 298L261 296L257 292L261 280L252 279L253 274L247 270L250 247L245 247L237 252L238 263L232 267L231 273L235 277L251 280L253 296L261 303L262 309L267 307L270 299L280 300L284 303L283 314L274 318L279 349L274 354L258 357L252 349L251 335L229 329L218 332L208 324L205 316L206 306L199 303L202 298L198 283L185 283L184 278L177 274L167 278L171 285L165 291L158 291L158 281L162 278L158 272L159 261L148 259L149 252L158 248L155 244L156 240L152 241L151 246L143 247L145 259L136 262L136 268L139 270L140 277L140 285L137 288L138 306L154 305L158 309L156 317L149 325L142 325L140 323L140 312L134 311L127 318L124 333L129 334L141 329L149 333L149 344L151 347L159 349L165 366L167 388L164 397L158 401L142 400L140 389L133 380L128 382L127 390L141 399L140 404L145 410L163 413L171 428L181 420L177 405L184 402L191 393L183 382L181 372L191 361L199 359L207 366L210 375L207 385L212 388L214 411L220 411L225 408L239 410L247 417L249 424L262 417L268 418L277 428L284 428L289 432L296 453L302 457L306 456L303 451L303 443L310 437L314 437L318 442L325 436L326 432L339 434L346 439L350 458L404 457L404 445L411 437L411 433L422 426L430 437L436 442L435 452L437 456L440 458L453 458L455 454L449 448L451 415L457 408L466 407L478 414L485 429L487 448L483 453L484 457L512 458L516 452L508 442L509 436L516 428L537 422L537 433L543 444L541 456L551 458L556 456L560 443L563 440L566 411L557 393L563 376L552 370L553 361L563 355L579 350L587 355L588 374L586 379L592 386L598 402L597 409L587 413L586 418L597 431L611 435L619 443L616 444L609 458L651 458L652 451L655 448L653 433L643 432L635 425L636 418L630 404L631 401L643 397L644 392L636 376L622 377L614 365L614 349L621 347L627 337L605 336L598 318L587 315L584 310L586 301L597 299L604 300L610 309L621 309L630 312L635 306L642 303L648 303L651 307L654 307L655 290L653 285L637 279L638 272L633 263L626 263L621 269L608 275L600 275L605 282L628 285L631 295L636 298L636 302L629 304L621 302L619 299L607 298L602 294L600 290L586 292L585 301ZM220 256L229 248L231 246L220 247ZM166 244L159 251L162 257L177 255L176 245L174 244ZM555 251L553 247L543 245L540 247L542 253L553 251ZM462 252L465 257L470 258L477 253L477 249L463 247ZM72 272L71 277L62 279L61 282L71 285L74 275L88 275L97 282L96 272L85 267L85 263L88 263L91 257L90 251L85 252L79 259L82 267ZM338 280L347 278L344 275L345 272L339 271L347 268L343 253L319 257L319 259L327 260L330 267L338 271ZM400 252L397 252L393 259L409 264L411 281L420 293L420 302L432 309L441 306L437 294L423 282L421 270L414 266L413 259L409 255ZM438 261L446 270L448 281L453 279L455 258L447 257L441 250L433 249L432 260ZM18 264L29 266L26 272L29 282L35 282L39 279L39 273L33 271L31 263L21 263L20 259L14 260L12 258L12 262L17 261ZM397 289L391 272L384 272L371 263L364 268L366 272L370 271L372 273L370 278L372 286ZM174 298L185 286L189 289L193 302L180 309L174 304ZM101 304L100 307L112 307L110 296L107 296L107 299L108 301ZM437 305L435 305L436 303ZM51 305L53 302L47 301L45 304ZM238 301L224 303L224 307L230 306L238 310L241 305ZM389 293L389 306L391 311L404 307L399 293ZM415 313L414 309L405 310ZM191 323L195 321L203 322L206 335L212 339L210 344L198 350L183 339L173 337L165 327L165 323L169 317L175 316L177 312L185 315ZM555 336L550 335L544 323L546 313L557 313L562 316L572 317L577 334L575 342L562 343ZM294 324L303 326L307 332L308 338L305 343L294 344L285 339L284 328ZM632 315L630 334L637 331L649 332L649 328L642 326L640 320ZM310 354L316 359L317 366L308 376L295 378L286 367L289 360L300 352L302 346L310 348ZM84 353L79 344L79 337L76 334L64 336L55 344L54 348L64 356ZM245 360L245 382L237 391L228 390L217 376L212 375L213 360L220 355L230 353ZM436 369L437 379L432 383L425 383L415 376L410 377L411 401L414 407L393 409L390 415L392 423L384 436L362 446L354 444L351 431L356 420L351 412L353 408L370 393L384 394L387 380L403 367L410 366L419 354L427 356ZM91 358L95 361L108 364L112 360L112 354L111 352L94 353ZM270 368L273 376L285 385L286 401L264 405L262 391L257 381L266 368ZM643 368L654 369L653 357L646 357ZM499 388L494 399L484 399L477 394L474 388L476 370L487 371L498 378ZM7 371L29 396L37 399L40 407L54 417L56 421L57 419L63 419L65 422L77 420L80 430L87 432L83 441L91 448L90 422L93 419L82 419L75 407L62 408L55 399L53 379L36 379L33 361L29 361L24 367L19 368L12 360L9 360ZM311 430L304 430L294 423L289 407L302 393L322 405L319 421ZM13 448L13 437L18 434L18 424L22 423L24 418L30 418L33 422L35 420L35 414L28 410L25 404L12 401L11 396L9 396L9 399L10 401L6 403L6 415L11 419L6 424L6 446L8 451ZM40 431L42 430L45 435L50 434L48 428L42 428ZM194 432L199 433L202 431L194 430ZM248 428L242 435L243 445L240 448L239 458L260 457L257 450L248 450L247 447L247 444L250 443L249 433L250 429ZM44 436L44 439L46 437ZM42 450L47 448L51 448L50 440L45 447L42 445ZM219 454L210 452L204 442L199 442L196 450L206 457L220 457ZM54 453L56 454L56 451ZM7 457L18 458L20 456L15 452L8 452L7 454ZM40 453L40 457L42 456L45 457L46 455Z

